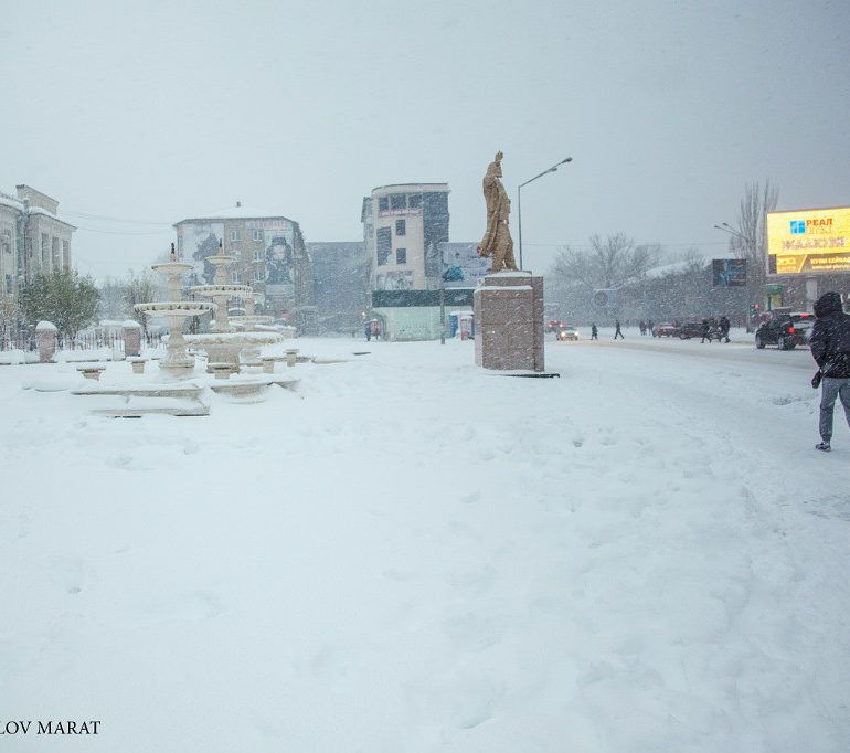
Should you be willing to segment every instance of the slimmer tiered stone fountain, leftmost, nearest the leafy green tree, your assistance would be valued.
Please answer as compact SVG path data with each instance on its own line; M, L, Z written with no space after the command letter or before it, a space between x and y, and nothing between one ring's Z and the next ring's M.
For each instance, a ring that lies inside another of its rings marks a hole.
M159 370L174 379L189 376L194 369L194 356L187 351L183 338L183 320L215 311L216 305L195 300L180 300L180 280L191 271L191 264L177 261L174 244L171 244L171 261L167 264L155 264L151 269L164 274L168 279L168 300L151 304L136 304L134 308L151 318L162 317L169 327L166 358L160 360Z

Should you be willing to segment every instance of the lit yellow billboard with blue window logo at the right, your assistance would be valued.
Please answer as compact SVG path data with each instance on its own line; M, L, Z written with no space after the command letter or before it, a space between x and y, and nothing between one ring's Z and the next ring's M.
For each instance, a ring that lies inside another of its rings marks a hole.
M768 212L768 272L850 272L850 206Z

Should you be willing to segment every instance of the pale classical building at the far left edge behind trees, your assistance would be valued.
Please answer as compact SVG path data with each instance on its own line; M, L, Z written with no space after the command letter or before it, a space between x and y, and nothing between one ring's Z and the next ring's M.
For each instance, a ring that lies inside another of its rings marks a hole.
M0 193L0 296L14 299L21 284L40 273L71 268L76 230L56 215L59 202L29 185Z

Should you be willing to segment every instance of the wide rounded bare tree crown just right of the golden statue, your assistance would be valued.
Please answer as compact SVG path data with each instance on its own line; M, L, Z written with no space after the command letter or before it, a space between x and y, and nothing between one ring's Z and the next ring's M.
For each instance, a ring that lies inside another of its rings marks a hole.
M657 245L636 246L623 233L603 240L593 235L587 248L567 246L555 257L552 274L563 283L614 288L644 277L658 257Z

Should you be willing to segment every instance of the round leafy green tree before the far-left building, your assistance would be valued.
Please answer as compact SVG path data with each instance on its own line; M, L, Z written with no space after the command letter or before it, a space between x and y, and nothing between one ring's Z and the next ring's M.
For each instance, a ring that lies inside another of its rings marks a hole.
M74 337L95 321L99 299L91 277L81 277L76 269L65 268L36 275L20 293L26 324L34 327L42 320L52 321L63 337Z

